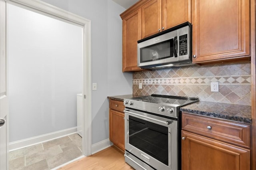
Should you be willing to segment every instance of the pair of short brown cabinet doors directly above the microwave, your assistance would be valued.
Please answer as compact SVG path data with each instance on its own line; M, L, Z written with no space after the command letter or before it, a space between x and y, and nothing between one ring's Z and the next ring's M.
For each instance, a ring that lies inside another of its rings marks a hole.
M141 7L141 38L191 22L191 0L149 0Z

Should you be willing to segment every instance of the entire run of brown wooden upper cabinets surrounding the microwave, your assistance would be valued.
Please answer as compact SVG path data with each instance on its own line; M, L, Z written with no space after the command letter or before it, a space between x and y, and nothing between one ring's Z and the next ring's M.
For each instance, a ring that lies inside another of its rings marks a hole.
M250 59L250 0L140 0L123 12L123 69L137 66L137 41L192 22L193 63Z

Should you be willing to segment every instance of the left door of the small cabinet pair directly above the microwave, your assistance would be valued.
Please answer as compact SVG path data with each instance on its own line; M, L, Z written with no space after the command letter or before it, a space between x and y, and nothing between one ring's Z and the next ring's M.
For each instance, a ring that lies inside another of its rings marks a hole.
M141 7L142 39L161 31L161 0L150 0Z

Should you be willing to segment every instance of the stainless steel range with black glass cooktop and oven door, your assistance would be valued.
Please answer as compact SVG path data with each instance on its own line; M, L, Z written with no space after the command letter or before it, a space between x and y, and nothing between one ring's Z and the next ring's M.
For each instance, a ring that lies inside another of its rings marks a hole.
M180 170L179 108L197 101L166 95L124 99L125 161L136 170Z

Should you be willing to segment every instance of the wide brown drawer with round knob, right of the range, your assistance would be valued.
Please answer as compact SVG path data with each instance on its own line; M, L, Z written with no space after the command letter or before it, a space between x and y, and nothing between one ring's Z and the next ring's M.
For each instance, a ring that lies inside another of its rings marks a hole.
M250 125L182 113L182 130L250 148Z

